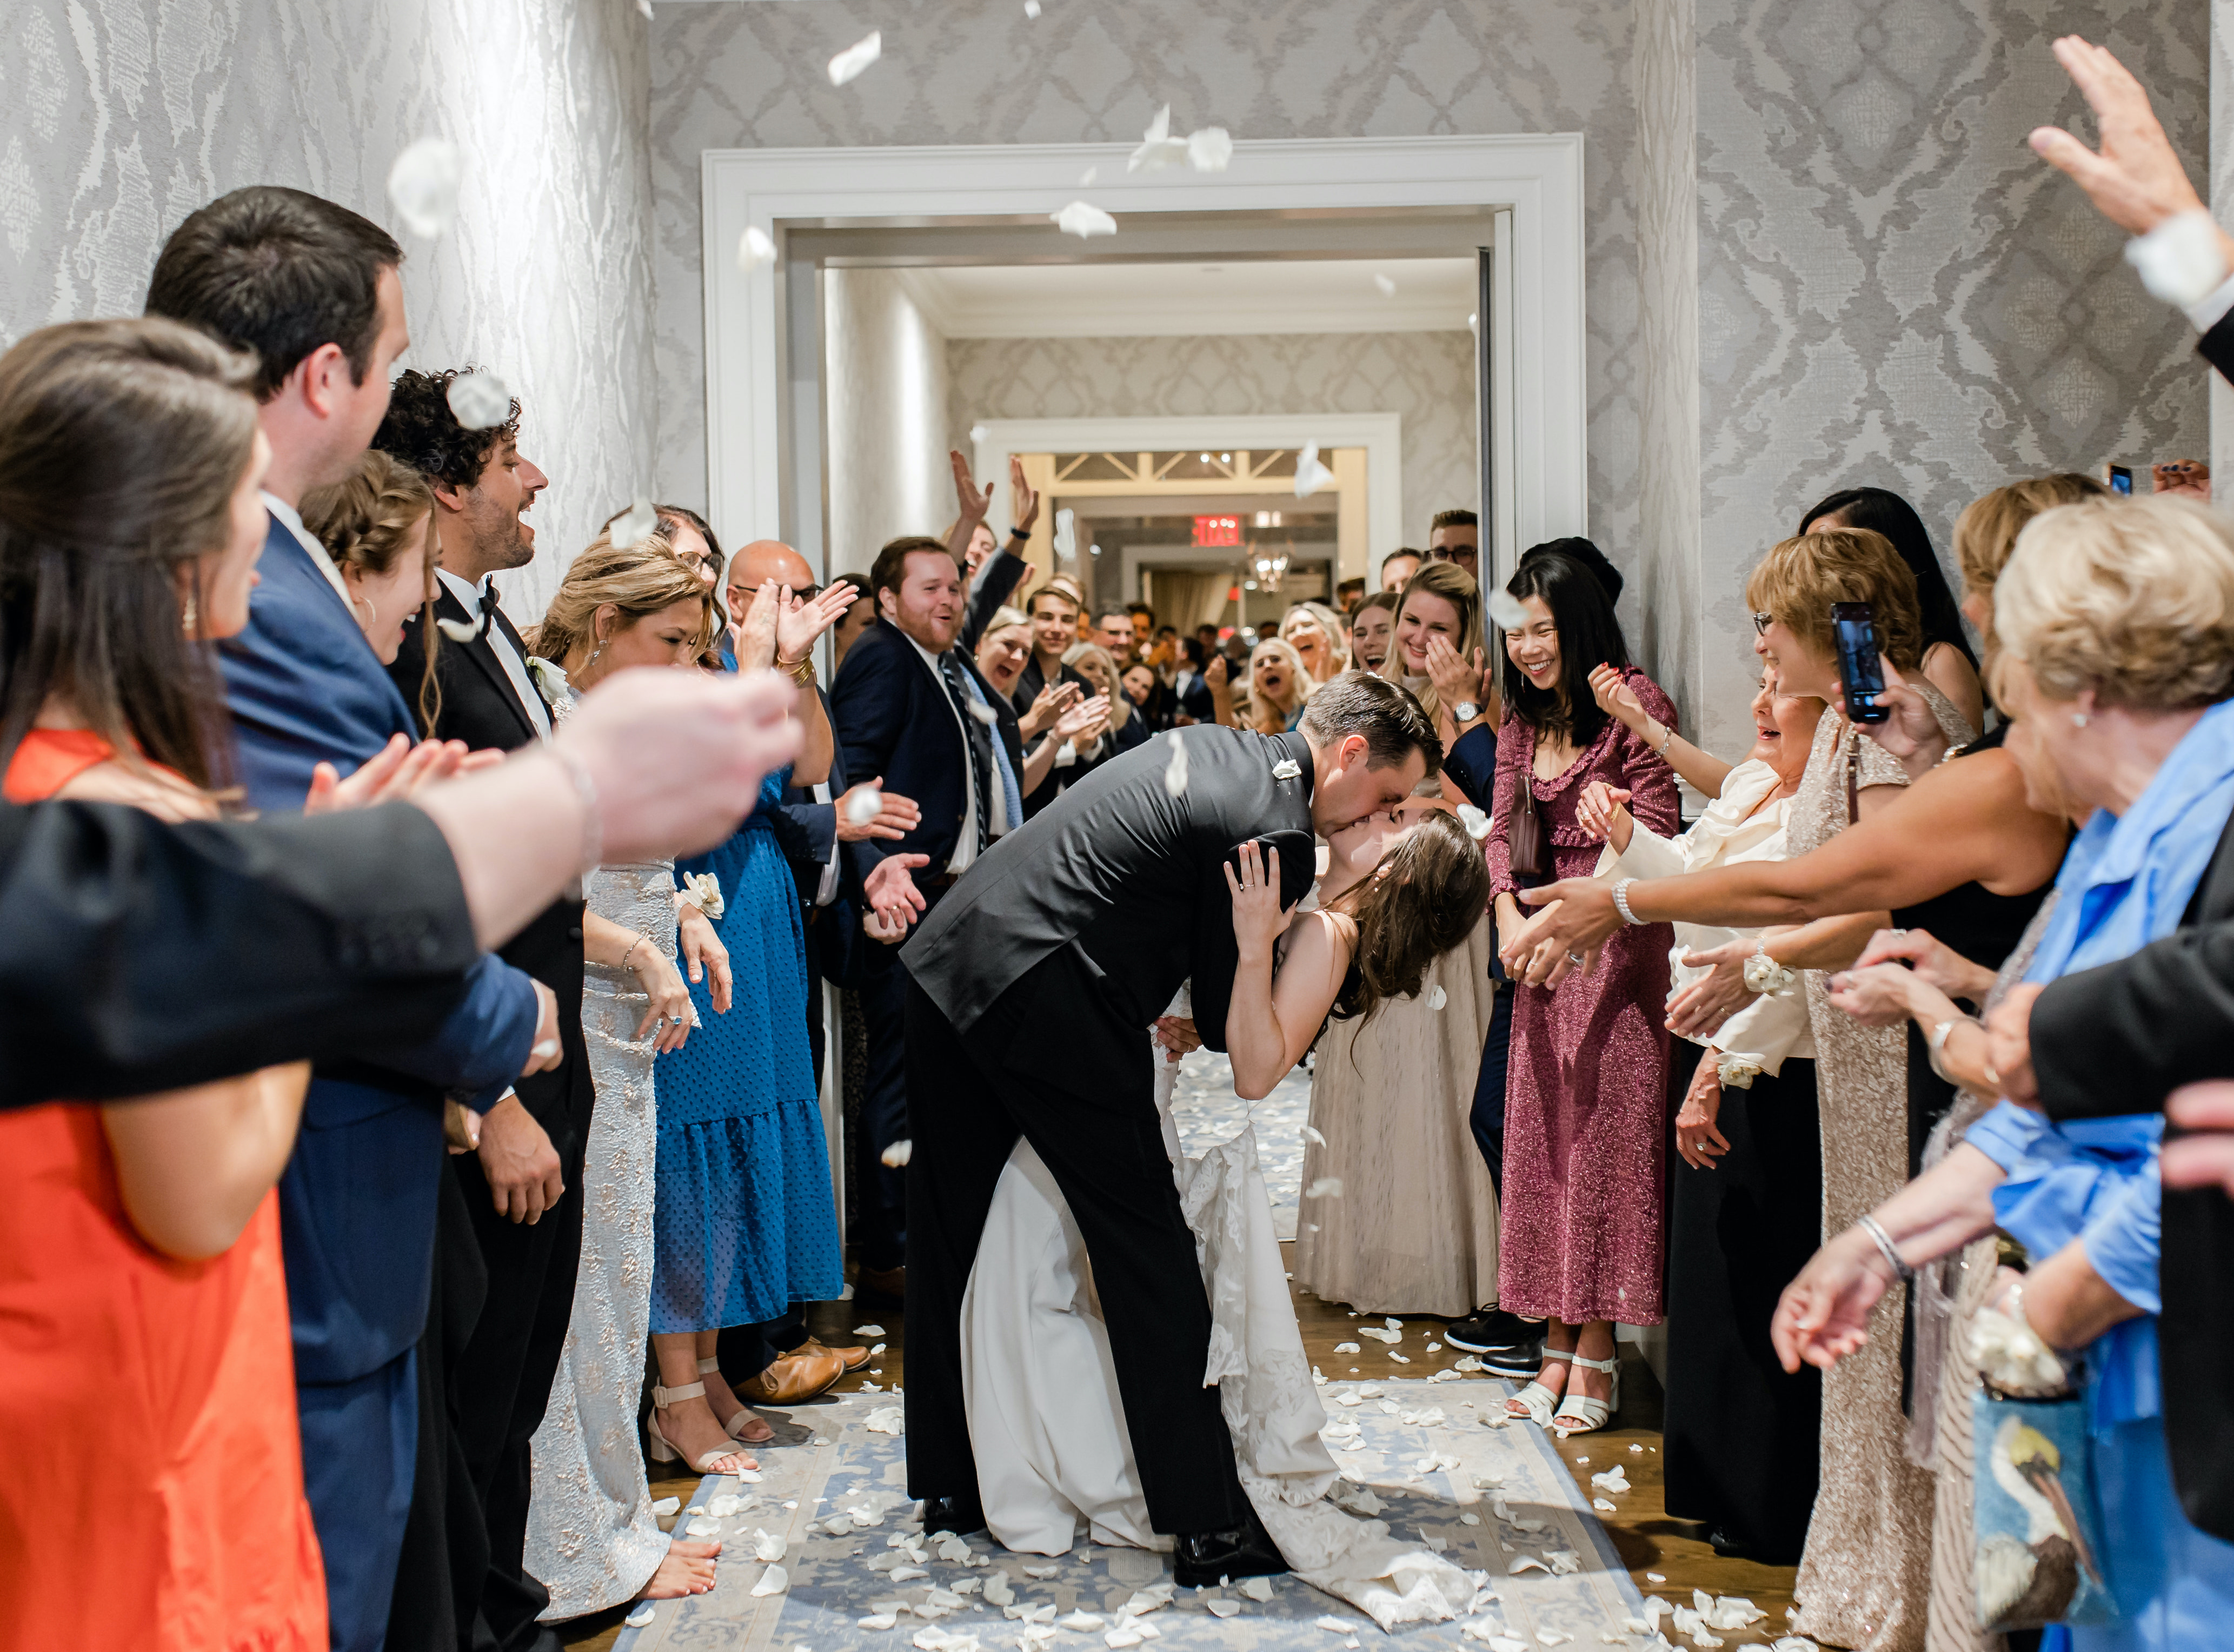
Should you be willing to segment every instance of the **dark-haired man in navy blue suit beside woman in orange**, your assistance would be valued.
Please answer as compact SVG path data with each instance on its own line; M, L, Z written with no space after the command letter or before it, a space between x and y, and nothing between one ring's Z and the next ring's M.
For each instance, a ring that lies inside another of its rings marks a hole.
M353 770L411 708L357 625L299 500L346 478L389 404L409 344L402 250L380 225L299 190L235 190L181 223L147 313L261 359L270 538L248 630L223 645L239 779L266 813L297 810L317 763ZM442 1096L487 1105L556 1060L556 1000L483 958L465 1005L418 1047L322 1063L279 1181L304 1489L326 1560L333 1645L378 1652L411 1507L416 1344L427 1319Z

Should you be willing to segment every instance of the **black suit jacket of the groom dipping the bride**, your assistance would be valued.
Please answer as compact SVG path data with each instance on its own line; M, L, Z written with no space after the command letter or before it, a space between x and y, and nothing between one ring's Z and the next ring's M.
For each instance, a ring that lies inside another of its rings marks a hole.
M1195 1029L1226 1047L1235 944L1222 866L1242 842L1264 839L1280 851L1282 904L1302 900L1316 871L1311 748L1302 734L1215 723L1177 737L1188 770L1180 797L1164 784L1171 743L1139 746L994 844L923 920L900 962L958 1034L1075 942L1075 962L1099 978L1090 1022L1126 1043L1083 1049L1088 1022L1075 1016L1008 1018L1019 1043L1048 1043L1052 1083L1146 1067L1139 1034L1188 978ZM1276 779L1282 761L1296 772Z

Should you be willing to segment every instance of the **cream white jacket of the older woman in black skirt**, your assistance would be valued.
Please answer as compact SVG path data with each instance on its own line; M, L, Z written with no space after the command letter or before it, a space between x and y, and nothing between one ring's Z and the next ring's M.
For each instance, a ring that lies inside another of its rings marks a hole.
M1613 853L1613 844L1606 844L1606 853L1597 862L1597 875L1678 877L1682 873L1702 873L1709 866L1785 859L1785 819L1792 813L1792 799L1778 797L1774 804L1763 804L1778 784L1774 768L1758 757L1745 759L1729 770L1729 777L1722 781L1722 795L1707 806L1707 813L1698 817L1691 830L1671 842L1640 824L1631 828L1629 848L1620 855ZM1751 940L1760 931L1722 929L1718 924L1676 924L1676 944L1669 949L1669 1002L1684 987L1709 973L1684 964L1684 953L1722 947L1740 935ZM1807 993L1798 987L1785 993L1760 993L1725 1020L1713 1038L1693 1038L1691 1043L1718 1051L1716 1060L1725 1072L1725 1083L1729 1083L1734 1058L1740 1074L1747 1067L1758 1067L1774 1078L1787 1060L1814 1060L1814 1034L1807 1027ZM1745 1083L1751 1083L1751 1078ZM1745 1085L1738 1087L1743 1089Z

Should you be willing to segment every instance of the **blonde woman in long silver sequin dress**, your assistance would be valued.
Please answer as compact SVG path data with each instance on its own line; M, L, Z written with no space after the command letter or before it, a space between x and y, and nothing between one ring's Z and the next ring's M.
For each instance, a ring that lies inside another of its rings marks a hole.
M659 534L634 549L601 536L552 598L532 643L534 667L554 679L563 721L574 694L612 670L690 665L713 634L697 572ZM552 656L565 667L554 672L545 663ZM701 1594L713 1587L719 1552L713 1543L670 1545L652 1518L637 1411L652 1302L652 1063L681 1047L693 1014L677 935L688 933L693 964L713 971L717 987L728 958L699 904L677 900L670 859L599 866L583 880L583 895L581 1029L596 1107L583 1156L574 1313L532 1444L527 1574L550 1589L543 1621L637 1596ZM726 993L717 991L715 1002L726 1005ZM737 1462L751 1467L751 1458Z

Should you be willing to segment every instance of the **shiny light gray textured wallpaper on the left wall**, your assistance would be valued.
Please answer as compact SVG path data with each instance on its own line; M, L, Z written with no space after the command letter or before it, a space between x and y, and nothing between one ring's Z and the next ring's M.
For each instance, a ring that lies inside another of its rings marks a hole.
M454 138L454 232L404 241L407 364L474 359L525 404L550 471L538 612L650 480L646 22L630 0L7 0L0 7L0 339L136 315L181 217L244 183L395 225L398 150Z

